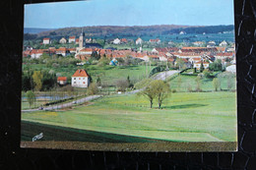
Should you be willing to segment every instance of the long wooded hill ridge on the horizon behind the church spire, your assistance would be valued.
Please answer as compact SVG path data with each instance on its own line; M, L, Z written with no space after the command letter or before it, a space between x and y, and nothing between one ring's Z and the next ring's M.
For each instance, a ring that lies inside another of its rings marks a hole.
M160 26L96 26L84 27L86 36L93 37L121 37L121 36L145 36L145 35L167 35L179 33L181 30L187 33L218 33L224 31L233 31L233 25L229 26L176 26L176 25L160 25ZM38 37L43 36L79 36L82 28L58 28L38 33Z

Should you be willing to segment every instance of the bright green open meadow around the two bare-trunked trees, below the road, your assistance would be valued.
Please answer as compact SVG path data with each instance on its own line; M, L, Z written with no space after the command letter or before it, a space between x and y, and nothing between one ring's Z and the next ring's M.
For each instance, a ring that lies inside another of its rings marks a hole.
M236 142L235 92L172 93L158 109L136 94L103 97L68 111L23 113L22 120L170 142Z

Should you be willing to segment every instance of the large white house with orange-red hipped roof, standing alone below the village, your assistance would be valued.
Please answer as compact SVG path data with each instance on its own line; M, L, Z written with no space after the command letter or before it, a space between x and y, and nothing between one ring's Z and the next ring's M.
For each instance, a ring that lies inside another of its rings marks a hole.
M72 86L88 87L90 85L90 76L84 69L77 70L71 79Z

